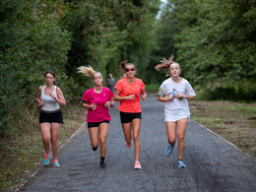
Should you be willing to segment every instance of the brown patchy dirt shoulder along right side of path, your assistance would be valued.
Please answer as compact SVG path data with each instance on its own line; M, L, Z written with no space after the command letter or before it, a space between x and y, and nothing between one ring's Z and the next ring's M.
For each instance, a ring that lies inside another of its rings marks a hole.
M256 158L256 103L189 101L191 118Z

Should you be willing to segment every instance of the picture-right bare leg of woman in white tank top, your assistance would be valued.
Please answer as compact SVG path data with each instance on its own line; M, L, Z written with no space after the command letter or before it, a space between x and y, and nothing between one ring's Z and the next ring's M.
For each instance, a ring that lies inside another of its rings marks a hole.
M58 142L59 142L59 130L62 124L51 123L51 149L53 160L57 159L58 156Z

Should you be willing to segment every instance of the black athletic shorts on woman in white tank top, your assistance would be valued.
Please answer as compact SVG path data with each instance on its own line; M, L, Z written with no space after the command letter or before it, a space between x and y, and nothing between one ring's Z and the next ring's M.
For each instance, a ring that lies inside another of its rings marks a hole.
M39 123L59 123L63 124L63 117L61 110L54 112L40 111Z

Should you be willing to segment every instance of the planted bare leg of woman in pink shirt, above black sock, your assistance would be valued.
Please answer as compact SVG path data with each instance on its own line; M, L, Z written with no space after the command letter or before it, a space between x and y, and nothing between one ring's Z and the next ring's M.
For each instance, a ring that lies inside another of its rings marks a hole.
M99 143L100 143L100 157L104 158L106 153L106 137L109 130L109 124L108 123L100 123L98 126L99 131Z

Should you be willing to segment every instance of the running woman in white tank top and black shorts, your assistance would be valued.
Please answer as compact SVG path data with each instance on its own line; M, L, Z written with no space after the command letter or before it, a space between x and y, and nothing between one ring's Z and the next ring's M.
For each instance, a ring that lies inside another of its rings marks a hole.
M60 166L58 156L58 136L63 117L60 110L61 106L66 106L66 100L60 88L54 86L56 75L52 71L46 71L44 74L45 86L38 88L35 101L40 107L39 124L42 137L42 144L45 151L43 165L49 163L53 156L53 166ZM52 153L50 151L50 143Z

